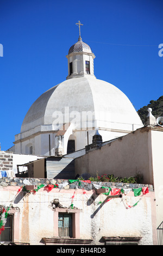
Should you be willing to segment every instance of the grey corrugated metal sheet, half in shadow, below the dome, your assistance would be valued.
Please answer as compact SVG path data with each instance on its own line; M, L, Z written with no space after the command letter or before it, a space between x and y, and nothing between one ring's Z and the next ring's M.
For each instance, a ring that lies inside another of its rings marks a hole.
M74 159L48 157L46 159L47 179L74 179Z

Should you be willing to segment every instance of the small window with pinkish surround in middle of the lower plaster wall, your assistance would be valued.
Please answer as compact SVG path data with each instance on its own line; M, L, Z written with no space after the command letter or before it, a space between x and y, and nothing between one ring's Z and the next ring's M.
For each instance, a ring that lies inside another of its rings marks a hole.
M72 237L72 214L59 212L58 234L59 236Z

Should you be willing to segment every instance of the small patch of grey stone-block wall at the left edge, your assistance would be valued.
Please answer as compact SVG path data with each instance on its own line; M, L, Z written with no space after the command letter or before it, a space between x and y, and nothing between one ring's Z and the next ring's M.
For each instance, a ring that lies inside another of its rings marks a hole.
M13 168L13 153L0 151L0 170L11 170Z

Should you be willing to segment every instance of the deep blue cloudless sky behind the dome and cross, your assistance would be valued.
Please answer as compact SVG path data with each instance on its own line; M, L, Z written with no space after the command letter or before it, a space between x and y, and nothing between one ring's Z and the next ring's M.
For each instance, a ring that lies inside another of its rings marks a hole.
M162 96L162 7L162 0L0 0L1 150L12 147L37 97L66 80L78 20L98 79L122 90L136 110Z

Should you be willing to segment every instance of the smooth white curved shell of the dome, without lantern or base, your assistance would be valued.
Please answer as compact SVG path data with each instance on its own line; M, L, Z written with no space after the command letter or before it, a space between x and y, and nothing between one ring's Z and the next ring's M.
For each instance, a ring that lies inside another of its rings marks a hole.
M54 112L65 113L65 107L70 113L94 112L98 127L102 129L108 128L108 124L117 130L132 130L125 128L126 125L143 126L132 103L121 90L108 82L87 76L66 80L43 93L27 112L21 133L36 126L51 125ZM103 113L102 118L99 111Z

